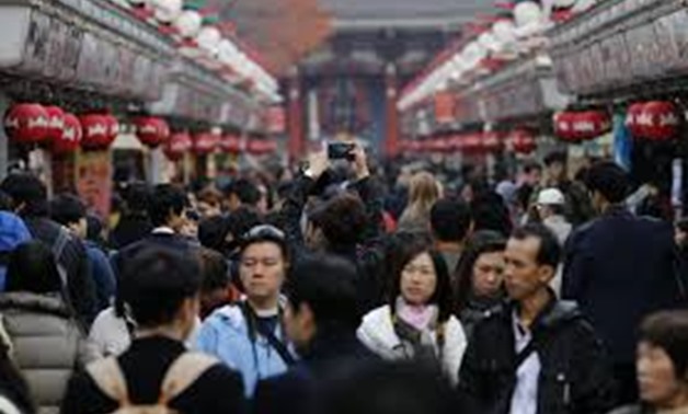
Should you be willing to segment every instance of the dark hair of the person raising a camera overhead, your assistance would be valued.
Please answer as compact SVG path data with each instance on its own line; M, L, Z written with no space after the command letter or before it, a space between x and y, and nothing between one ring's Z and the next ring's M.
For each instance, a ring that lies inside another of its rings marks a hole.
M342 193L317 207L309 219L322 230L333 249L357 244L368 226L366 206L351 193Z

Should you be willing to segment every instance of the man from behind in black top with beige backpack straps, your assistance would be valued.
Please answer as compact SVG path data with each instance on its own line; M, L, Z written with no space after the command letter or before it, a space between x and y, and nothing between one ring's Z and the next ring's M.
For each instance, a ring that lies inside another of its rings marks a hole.
M219 360L188 353L184 346L199 310L200 269L194 256L164 248L145 249L131 258L121 287L138 324L136 340L119 357L95 361L85 372L76 373L61 412L112 413L126 403L154 405L162 400L168 409L185 414L243 413L241 377ZM196 358L196 366L187 366L187 375L172 376L172 368L185 357ZM117 393L107 387L117 381L104 375L103 367L112 364L123 377Z

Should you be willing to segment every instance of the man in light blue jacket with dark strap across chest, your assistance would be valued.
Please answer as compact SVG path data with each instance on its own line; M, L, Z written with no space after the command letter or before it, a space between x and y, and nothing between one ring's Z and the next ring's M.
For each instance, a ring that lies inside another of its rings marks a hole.
M272 226L253 228L242 238L239 262L245 298L215 311L200 329L198 349L241 372L249 398L260 380L284 373L294 363L282 325L288 267L284 233Z

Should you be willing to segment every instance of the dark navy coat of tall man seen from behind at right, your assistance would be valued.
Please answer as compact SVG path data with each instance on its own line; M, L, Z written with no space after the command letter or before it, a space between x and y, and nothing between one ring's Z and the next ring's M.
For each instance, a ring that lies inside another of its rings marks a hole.
M676 261L669 223L622 208L571 234L562 297L578 302L615 364L634 360L635 332L644 317L679 306Z

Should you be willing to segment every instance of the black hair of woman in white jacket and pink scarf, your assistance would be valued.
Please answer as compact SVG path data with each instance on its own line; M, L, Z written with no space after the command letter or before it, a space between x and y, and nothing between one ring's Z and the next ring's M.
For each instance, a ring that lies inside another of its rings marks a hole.
M435 292L429 298L429 303L436 304L439 308L439 322L446 322L454 312L454 290L451 288L451 276L447 268L447 261L444 256L425 245L422 241L413 243L408 250L405 250L403 257L399 257L394 274L391 275L391 284L389 287L389 304L394 311L397 307L397 298L401 296L401 277L404 267L411 263L418 255L427 253L433 261L433 267L435 267L435 275L437 277L437 284L435 285Z

